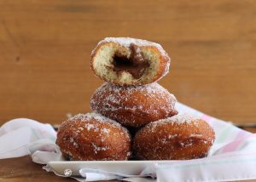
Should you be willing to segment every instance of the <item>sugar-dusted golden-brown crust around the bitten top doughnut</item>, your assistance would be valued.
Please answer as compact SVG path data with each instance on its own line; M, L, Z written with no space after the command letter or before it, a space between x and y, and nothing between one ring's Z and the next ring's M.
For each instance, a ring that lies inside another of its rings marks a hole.
M118 38L117 38L118 39ZM127 38L129 39L133 39L133 38ZM133 39L133 40L139 40L139 41L144 41L144 40L140 40L140 39ZM159 67L154 75L154 77L152 77L152 79L147 80L147 81L142 81L140 79L137 80L137 82L133 82L133 83L128 83L128 82L121 82L121 81L117 81L117 80L113 80L113 79L109 79L108 76L101 76L99 74L97 74L96 71L96 67L94 66L94 61L96 58L96 54L99 53L99 50L103 47L103 46L110 46L111 44L118 44L120 47L125 48L125 45L123 45L122 43L119 42L115 42L114 39L110 40L110 41L105 41L102 40L100 43L98 43L98 45L96 46L96 48L92 51L91 56L90 56L90 68L91 70L94 72L94 74L101 78L102 80L106 81L106 82L111 82L113 84L118 84L118 85L143 85L143 84L148 84L151 82L156 82L158 80L160 80L161 77L166 76L166 74L169 71L169 67L171 64L171 59L169 57L168 54L166 54L166 51L164 51L160 44L158 43L151 43L148 41L145 41L146 43L137 43L135 42L134 44L137 45L138 48L141 49L151 49L152 52L154 52L155 54L158 55L158 61L159 61Z

